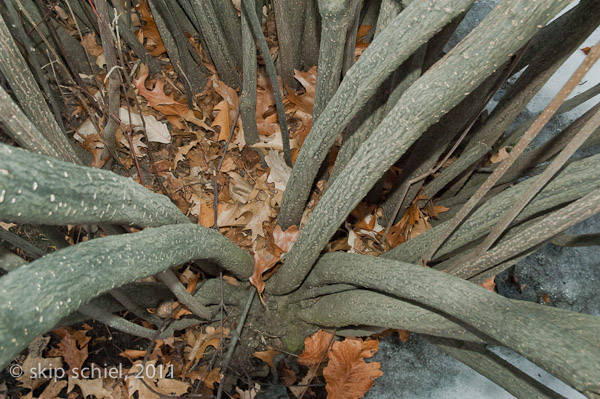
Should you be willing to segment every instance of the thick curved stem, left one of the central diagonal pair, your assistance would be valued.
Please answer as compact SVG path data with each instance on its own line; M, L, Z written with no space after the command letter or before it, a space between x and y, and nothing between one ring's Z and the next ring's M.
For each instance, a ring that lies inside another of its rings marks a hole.
M294 164L277 223L298 225L311 185L331 145L383 81L416 49L466 10L473 0L414 2L390 23L350 68L319 118ZM398 40L402 37L402 40Z

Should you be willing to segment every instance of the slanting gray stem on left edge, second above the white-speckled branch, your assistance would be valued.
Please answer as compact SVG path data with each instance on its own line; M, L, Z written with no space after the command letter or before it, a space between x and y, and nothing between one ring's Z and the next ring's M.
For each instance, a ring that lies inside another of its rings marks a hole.
M46 139L52 143L61 158L73 163L81 163L65 133L54 119L44 96L38 87L17 44L10 35L0 16L0 70L10 84L25 114L35 124Z

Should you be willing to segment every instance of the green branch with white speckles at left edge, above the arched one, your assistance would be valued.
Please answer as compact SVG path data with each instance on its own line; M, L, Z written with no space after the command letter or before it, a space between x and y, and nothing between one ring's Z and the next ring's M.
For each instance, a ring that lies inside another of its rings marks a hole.
M189 223L167 197L105 170L0 144L0 218L48 225Z

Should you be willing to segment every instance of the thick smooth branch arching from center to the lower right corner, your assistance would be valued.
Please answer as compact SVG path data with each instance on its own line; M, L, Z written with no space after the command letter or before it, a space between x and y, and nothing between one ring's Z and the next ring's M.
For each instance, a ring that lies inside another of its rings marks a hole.
M305 281L308 286L333 283L352 283L435 309L583 394L600 395L600 317L507 299L446 273L364 255L323 255Z

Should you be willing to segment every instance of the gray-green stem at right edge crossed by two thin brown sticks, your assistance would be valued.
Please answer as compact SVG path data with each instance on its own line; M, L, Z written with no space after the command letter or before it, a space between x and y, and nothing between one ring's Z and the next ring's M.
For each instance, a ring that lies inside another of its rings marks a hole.
M567 165L523 209L516 222L525 221L536 214L575 201L599 188L598 168L600 168L600 155ZM522 195L536 178L525 180L483 203L440 247L437 257L443 257L483 237L498 222L502 214L512 206L514 199ZM441 223L433 229L400 244L383 254L383 257L410 263L420 262L421 255L425 253L438 234L443 232L446 223L448 222Z

